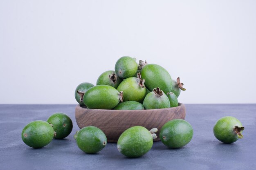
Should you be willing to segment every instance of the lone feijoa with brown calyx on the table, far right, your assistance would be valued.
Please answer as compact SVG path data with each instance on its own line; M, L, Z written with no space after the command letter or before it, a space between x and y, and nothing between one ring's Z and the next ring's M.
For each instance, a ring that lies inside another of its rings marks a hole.
M235 117L226 116L220 118L213 127L214 136L223 143L231 144L243 138L242 131L245 128Z

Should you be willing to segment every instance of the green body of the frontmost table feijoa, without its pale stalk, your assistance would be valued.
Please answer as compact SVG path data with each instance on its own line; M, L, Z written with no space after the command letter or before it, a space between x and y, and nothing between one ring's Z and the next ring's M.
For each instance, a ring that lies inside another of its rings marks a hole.
M140 157L146 154L152 146L152 135L142 126L128 128L117 141L117 149L127 157Z

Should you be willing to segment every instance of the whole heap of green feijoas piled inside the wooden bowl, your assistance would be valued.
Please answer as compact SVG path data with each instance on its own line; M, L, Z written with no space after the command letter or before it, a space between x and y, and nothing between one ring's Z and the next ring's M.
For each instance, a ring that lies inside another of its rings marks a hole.
M162 66L147 64L132 57L121 57L115 71L106 71L96 86L81 83L75 90L76 101L90 109L143 110L178 106L180 78L173 80Z

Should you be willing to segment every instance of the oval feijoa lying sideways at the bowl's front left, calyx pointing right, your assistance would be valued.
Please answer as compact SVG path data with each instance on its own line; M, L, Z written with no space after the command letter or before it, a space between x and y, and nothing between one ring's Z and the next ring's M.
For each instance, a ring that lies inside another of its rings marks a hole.
M85 106L91 109L112 109L119 101L123 101L123 92L108 85L93 86L83 96Z

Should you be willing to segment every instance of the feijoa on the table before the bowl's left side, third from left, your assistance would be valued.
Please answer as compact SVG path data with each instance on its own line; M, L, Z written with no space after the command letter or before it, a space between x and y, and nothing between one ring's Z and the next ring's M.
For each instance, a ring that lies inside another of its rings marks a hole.
M95 126L86 126L74 135L77 146L85 153L97 153L107 145L107 137Z

